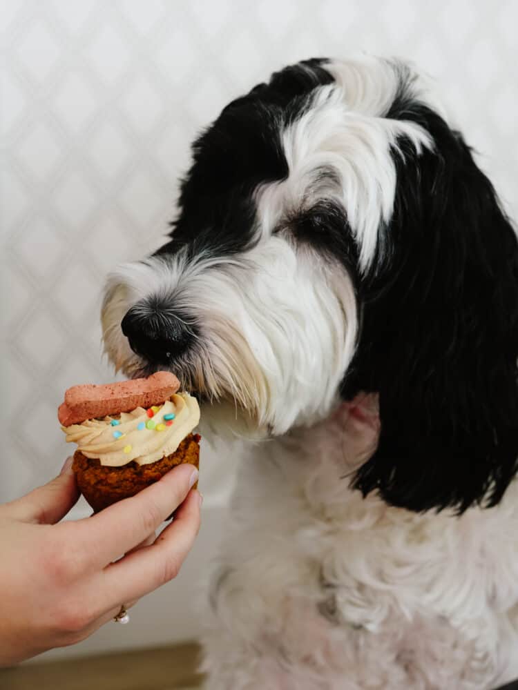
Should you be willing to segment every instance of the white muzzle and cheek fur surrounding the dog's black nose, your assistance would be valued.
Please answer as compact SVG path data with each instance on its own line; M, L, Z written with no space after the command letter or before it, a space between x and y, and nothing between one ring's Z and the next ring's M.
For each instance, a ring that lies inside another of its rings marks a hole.
M111 277L107 295L106 348L129 375L138 375L142 362L120 331L128 308L164 295L195 313L200 333L179 375L202 398L226 403L225 421L240 433L247 422L251 433L280 434L325 417L354 353L349 278L285 237L231 259L187 263L180 253L128 264Z

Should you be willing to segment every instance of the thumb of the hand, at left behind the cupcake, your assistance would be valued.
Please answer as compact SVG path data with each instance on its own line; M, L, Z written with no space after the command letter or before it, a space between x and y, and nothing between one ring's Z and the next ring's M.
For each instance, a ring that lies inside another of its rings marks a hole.
M13 517L18 520L55 524L68 513L78 498L72 457L68 457L61 473L55 479L8 505Z

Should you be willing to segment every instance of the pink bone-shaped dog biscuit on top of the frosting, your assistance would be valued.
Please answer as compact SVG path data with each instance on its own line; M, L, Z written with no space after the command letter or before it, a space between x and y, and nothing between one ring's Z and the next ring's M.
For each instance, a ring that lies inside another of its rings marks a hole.
M94 417L130 412L136 407L149 408L167 400L178 388L180 382L169 371L115 384L73 386L66 391L57 418L63 426L70 426Z

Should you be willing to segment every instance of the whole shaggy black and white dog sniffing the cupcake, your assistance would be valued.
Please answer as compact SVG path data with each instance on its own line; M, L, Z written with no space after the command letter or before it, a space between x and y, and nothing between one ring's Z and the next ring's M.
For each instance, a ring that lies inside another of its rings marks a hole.
M253 441L209 689L517 677L518 245L428 81L277 72L195 141L179 207L102 317L117 368L171 368Z

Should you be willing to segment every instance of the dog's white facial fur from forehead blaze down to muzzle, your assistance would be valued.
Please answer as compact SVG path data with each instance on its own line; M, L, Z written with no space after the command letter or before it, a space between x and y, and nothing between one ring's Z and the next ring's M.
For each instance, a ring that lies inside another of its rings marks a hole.
M181 250L151 257L108 281L104 342L115 366L127 375L146 371L120 328L135 304L159 298L193 315L195 345L172 368L203 398L224 403L227 425L241 433L243 423L249 433L280 434L326 417L354 354L351 277L333 257L300 246L291 218L320 199L345 206L366 270L383 250L379 230L392 215L398 137L418 154L432 146L419 125L383 117L396 90L390 66L365 58L334 71L339 85L316 88L306 112L282 127L288 174L253 192L251 246L231 257L188 259Z

